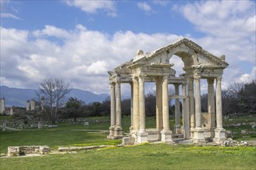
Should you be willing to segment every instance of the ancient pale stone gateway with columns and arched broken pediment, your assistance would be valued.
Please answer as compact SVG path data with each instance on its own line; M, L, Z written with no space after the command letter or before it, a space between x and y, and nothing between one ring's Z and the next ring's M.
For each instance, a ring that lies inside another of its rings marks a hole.
M171 56L179 56L185 71L180 76L171 69ZM131 125L130 137L137 143L151 140L172 143L169 125L169 99L175 99L174 133L184 134L185 139L194 143L225 140L222 120L221 80L227 68L225 56L214 56L189 39L181 39L169 46L137 56L127 63L109 71L111 86L111 124L107 138L123 138L121 124L121 83L131 87ZM208 111L201 110L202 79L208 83ZM214 81L216 85L214 86ZM144 83L156 83L156 128L145 128ZM168 84L175 85L175 95L168 93ZM182 86L182 94L178 87ZM215 88L214 88L215 87ZM215 93L214 93L215 90ZM216 98L216 99L215 99ZM179 100L182 100L182 122L180 121Z

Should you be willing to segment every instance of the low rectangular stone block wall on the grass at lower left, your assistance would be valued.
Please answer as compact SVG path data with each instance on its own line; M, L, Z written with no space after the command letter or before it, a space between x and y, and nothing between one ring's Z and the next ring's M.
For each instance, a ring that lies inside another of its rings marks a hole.
M45 155L50 152L50 148L44 146L9 146L8 156L22 156L27 154Z

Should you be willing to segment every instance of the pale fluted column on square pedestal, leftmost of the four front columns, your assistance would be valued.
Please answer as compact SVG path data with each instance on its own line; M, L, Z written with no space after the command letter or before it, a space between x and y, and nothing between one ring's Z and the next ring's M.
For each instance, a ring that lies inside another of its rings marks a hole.
M139 98L140 98L140 131L137 133L137 142L147 142L147 133L145 126L145 94L144 94L144 75L139 76Z

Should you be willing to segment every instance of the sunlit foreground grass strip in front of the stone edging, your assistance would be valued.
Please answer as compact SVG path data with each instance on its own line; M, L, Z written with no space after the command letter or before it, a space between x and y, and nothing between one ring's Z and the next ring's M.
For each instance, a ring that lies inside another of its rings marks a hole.
M78 154L0 158L2 169L255 169L255 147L138 145Z

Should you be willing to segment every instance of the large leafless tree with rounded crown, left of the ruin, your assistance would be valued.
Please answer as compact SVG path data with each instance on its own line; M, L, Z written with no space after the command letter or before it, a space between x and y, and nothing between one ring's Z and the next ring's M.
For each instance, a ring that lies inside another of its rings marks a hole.
M57 121L58 109L64 106L65 95L70 91L69 84L61 79L49 78L40 83L36 95L39 99L43 99L43 112L53 124Z

